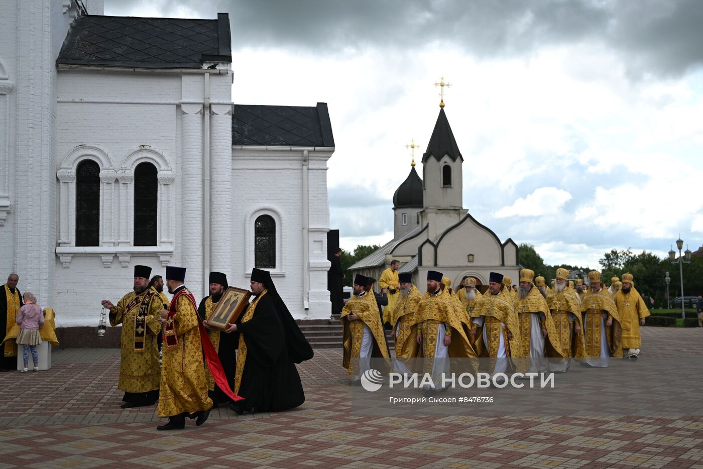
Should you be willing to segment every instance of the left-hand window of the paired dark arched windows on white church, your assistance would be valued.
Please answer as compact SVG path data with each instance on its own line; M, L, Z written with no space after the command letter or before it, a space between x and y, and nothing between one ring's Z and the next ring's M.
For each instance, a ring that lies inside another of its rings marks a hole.
M99 243L100 167L93 160L84 160L76 171L76 245Z

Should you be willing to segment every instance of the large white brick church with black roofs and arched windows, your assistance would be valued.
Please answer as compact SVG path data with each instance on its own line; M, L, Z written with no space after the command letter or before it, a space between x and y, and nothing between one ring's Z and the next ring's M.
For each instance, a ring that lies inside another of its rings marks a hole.
M271 271L296 319L328 318L325 103L232 102L228 16L103 15L0 0L0 283L96 326L133 266L247 287Z

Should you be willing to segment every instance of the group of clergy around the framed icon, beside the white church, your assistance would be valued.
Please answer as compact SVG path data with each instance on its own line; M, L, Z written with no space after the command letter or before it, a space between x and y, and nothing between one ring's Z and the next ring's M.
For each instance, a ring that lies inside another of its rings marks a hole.
M155 276L150 285L150 274L149 266L135 266L133 291L117 304L101 302L110 325L122 324L117 388L124 391L123 409L158 401L157 416L169 420L157 430L180 430L186 417L200 426L220 405L241 414L304 402L295 364L311 359L313 351L268 271L252 270L254 300L225 330L207 318L228 287L226 274L210 273L210 295L199 307L184 283L186 269L166 268L170 302L163 281Z

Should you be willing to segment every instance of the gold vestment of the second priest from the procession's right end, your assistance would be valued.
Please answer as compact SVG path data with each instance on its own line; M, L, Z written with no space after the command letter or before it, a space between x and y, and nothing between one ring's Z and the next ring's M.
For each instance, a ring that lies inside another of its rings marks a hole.
M604 288L595 293L589 290L583 296L583 301L581 302L585 355L588 358L598 358L600 356L600 318L602 314L608 315L605 318L605 322L608 319L612 319L612 326L608 326L605 322L603 323L610 355L622 356L622 349L620 348L622 338L620 316L615 303L610 297L610 293Z

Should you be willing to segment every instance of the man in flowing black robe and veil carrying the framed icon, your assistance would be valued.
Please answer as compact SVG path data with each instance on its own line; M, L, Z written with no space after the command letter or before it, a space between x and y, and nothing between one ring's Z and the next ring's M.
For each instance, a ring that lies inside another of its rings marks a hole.
M281 300L271 274L252 270L252 302L240 321L234 392L245 400L230 404L236 413L293 409L305 401L295 364L309 360L312 348Z

